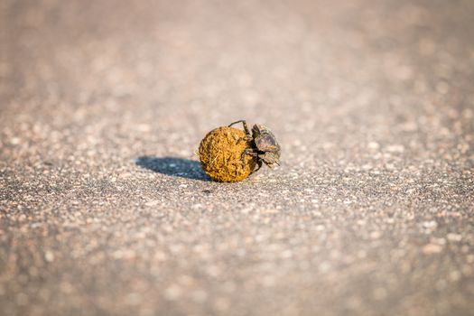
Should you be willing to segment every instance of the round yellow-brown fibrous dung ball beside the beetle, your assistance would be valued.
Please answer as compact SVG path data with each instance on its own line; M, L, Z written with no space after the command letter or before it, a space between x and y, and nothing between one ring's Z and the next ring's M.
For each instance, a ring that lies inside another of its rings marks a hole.
M233 127L218 127L200 142L202 170L214 181L237 182L246 179L256 168L256 157L242 153L248 147L244 131Z

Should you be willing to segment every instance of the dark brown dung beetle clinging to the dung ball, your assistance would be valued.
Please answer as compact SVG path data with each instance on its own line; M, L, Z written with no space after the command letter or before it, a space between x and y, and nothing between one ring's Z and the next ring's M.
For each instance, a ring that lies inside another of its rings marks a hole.
M242 153L242 163L246 163L245 157L246 154L249 154L256 157L258 164L258 168L254 172L262 167L262 163L265 163L270 168L273 168L275 164L280 165L280 144L276 142L272 131L265 125L256 124L252 127L252 134L250 134L246 120L243 119L228 125L228 127L238 123L244 125L248 145L244 153Z

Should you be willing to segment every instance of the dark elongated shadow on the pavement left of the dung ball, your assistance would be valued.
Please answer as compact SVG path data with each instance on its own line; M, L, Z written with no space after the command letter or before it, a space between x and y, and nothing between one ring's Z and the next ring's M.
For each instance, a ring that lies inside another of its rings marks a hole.
M135 164L153 172L192 180L210 181L200 168L200 162L176 157L141 156Z

